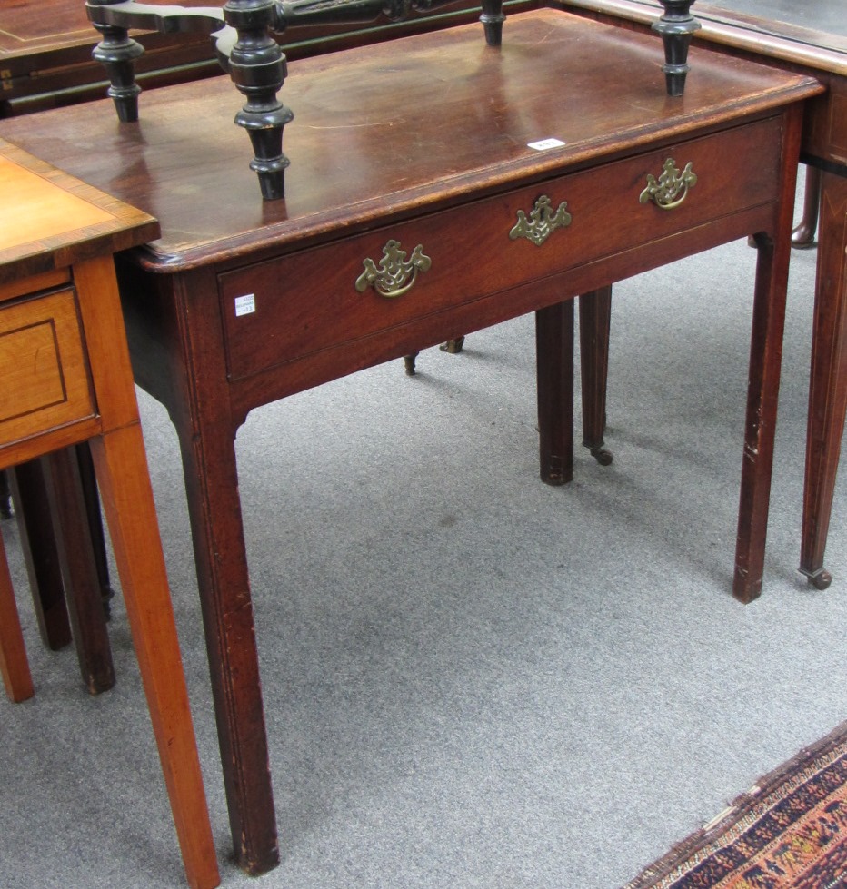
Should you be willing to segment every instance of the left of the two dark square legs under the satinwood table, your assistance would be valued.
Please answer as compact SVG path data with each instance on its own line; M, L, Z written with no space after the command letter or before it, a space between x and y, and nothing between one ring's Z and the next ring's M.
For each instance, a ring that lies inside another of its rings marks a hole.
M45 646L58 651L71 642L65 606L65 583L50 517L50 504L40 460L10 470L18 534L32 590L35 618Z

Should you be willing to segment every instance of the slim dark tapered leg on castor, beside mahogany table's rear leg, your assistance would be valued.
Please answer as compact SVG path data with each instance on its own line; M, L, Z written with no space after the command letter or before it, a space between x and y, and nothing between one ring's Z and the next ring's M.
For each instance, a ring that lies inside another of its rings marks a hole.
M609 375L609 331L612 324L612 287L579 297L580 365L583 383L583 446L601 466L612 462L603 448L606 428L606 380Z

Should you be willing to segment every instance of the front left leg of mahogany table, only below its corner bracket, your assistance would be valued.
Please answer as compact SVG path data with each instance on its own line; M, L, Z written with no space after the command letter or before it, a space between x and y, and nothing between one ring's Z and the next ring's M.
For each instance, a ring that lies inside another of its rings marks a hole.
M202 420L180 431L194 558L236 861L279 864L234 431Z

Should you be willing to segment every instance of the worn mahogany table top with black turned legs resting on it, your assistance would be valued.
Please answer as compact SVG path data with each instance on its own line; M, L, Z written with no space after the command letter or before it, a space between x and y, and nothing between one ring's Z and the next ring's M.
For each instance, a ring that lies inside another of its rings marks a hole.
M510 16L500 49L463 25L296 62L276 202L260 199L228 78L154 91L135 124L90 103L4 121L0 134L159 218L145 262L167 272L502 192L820 90L693 48L686 92L671 99L662 63L655 35L552 9ZM530 147L549 139L561 144Z

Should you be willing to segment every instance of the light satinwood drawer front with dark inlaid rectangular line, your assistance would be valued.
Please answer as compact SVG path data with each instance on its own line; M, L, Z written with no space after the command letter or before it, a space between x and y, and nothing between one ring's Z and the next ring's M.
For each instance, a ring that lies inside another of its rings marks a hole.
M0 308L0 447L94 410L75 292Z

